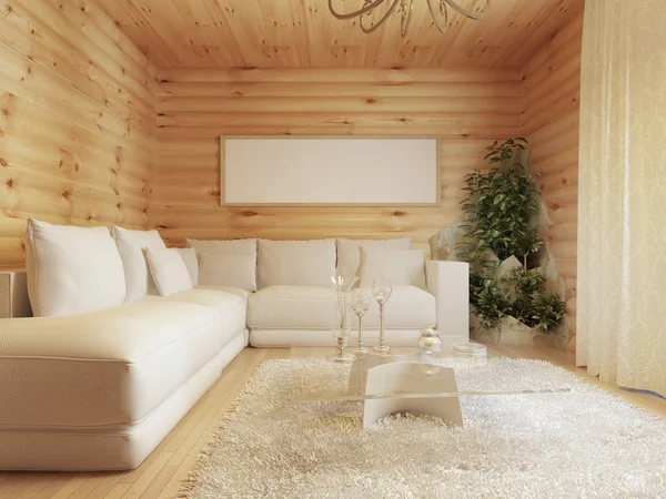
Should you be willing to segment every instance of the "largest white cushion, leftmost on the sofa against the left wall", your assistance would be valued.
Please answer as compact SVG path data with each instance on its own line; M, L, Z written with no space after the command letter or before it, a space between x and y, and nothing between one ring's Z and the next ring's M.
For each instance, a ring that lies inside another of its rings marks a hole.
M28 295L36 317L81 314L123 303L122 261L107 227L28 221Z

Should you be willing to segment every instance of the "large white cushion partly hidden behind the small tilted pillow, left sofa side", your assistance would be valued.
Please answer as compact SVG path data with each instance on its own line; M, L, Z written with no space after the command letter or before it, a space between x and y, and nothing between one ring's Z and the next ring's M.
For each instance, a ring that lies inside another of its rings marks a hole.
M158 231L130 231L113 225L111 233L124 267L125 302L134 302L145 295L157 294L153 278L148 269L143 249L165 249Z

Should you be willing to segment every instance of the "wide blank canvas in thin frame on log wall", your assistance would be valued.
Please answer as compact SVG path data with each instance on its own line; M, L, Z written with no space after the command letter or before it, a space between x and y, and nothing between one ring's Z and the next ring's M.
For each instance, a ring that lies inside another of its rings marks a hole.
M436 139L224 139L223 204L436 204Z

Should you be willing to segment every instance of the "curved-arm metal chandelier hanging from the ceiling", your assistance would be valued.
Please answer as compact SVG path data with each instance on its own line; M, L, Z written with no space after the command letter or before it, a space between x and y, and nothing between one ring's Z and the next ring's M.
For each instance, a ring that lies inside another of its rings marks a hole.
M448 8L460 12L466 18L480 20L485 17L491 7L491 0L485 0L485 7L480 13L471 12L461 7L454 0L423 0L427 3L433 23L440 30L441 33L445 33L448 30ZM337 0L337 2L344 2L344 0ZM359 18L359 24L364 33L372 33L379 27L381 27L386 19L395 11L400 13L400 32L403 38L406 37L407 30L410 29L410 22L412 21L412 8L414 7L414 0L363 0L363 7L353 12L341 13L333 7L335 0L329 0L329 10L331 13L340 20ZM384 11L382 13L382 10ZM379 19L375 18L375 12L380 13Z

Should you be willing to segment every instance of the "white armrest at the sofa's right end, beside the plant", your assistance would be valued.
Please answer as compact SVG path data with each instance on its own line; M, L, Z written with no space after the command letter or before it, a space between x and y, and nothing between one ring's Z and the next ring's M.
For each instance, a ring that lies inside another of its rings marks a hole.
M440 335L470 337L470 265L466 262L425 263L427 291L435 296Z

